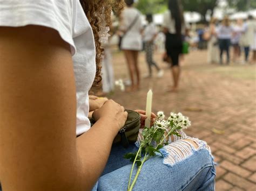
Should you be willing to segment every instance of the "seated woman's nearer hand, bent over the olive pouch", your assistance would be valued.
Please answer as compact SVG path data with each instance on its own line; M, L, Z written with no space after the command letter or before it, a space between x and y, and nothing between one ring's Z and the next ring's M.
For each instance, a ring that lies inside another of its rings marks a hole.
M123 106L119 105L113 100L107 100L103 106L95 110L92 115L96 121L100 119L104 120L105 123L110 123L118 132L123 128L128 113L124 110Z

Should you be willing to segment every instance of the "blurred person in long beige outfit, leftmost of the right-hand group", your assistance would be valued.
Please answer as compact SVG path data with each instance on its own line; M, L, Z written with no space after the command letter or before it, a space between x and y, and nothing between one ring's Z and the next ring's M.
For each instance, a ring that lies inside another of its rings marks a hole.
M216 36L217 19L212 18L208 28L207 62L219 63L218 39Z

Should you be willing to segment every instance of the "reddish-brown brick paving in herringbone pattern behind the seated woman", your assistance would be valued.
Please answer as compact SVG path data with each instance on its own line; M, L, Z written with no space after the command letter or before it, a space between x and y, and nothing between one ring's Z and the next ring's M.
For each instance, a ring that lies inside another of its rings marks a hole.
M165 93L171 84L165 63L164 77L143 80L135 93L120 90L110 97L127 109L144 109L146 93L153 89L153 112L182 112L190 117L187 135L204 139L211 146L217 167L216 190L256 190L256 87L255 65L207 65L206 52L192 52L183 62L179 93ZM122 54L113 56L116 79L127 77ZM144 55L140 68L146 73ZM200 111L201 110L201 111Z

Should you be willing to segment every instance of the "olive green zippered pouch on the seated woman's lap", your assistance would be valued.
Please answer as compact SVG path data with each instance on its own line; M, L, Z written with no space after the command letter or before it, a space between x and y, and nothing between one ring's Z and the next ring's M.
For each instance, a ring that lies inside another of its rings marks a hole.
M125 148L129 146L129 143L135 143L139 135L140 128L140 115L131 110L125 110L128 112L128 116L124 127L118 132L114 138L113 144L122 144ZM95 124L93 117L90 119L91 125Z

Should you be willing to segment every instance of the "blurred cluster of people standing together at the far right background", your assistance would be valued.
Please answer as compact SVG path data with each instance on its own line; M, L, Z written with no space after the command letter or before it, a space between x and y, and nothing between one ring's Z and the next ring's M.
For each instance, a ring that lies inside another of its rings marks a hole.
M222 21L212 18L203 32L203 39L208 43L208 63L224 63L223 54L226 53L226 64L256 63L256 19L238 19L231 22L228 17ZM230 50L233 49L231 58ZM242 56L242 59L240 56ZM251 55L251 60L250 58Z

